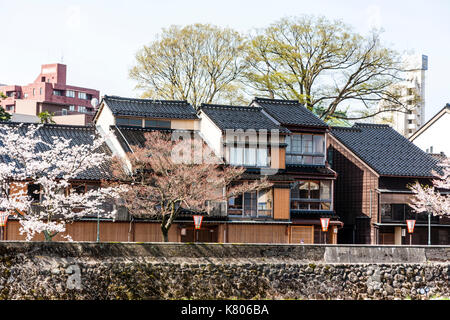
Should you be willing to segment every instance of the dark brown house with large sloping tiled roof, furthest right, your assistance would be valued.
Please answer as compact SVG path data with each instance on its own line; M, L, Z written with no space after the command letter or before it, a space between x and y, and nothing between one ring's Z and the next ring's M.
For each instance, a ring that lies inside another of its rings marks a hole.
M427 244L428 214L411 209L408 185L429 184L437 159L381 124L333 127L327 147L338 173L335 210L344 222L339 243L409 244L406 220L416 220L412 244ZM449 219L430 218L431 243L448 244Z

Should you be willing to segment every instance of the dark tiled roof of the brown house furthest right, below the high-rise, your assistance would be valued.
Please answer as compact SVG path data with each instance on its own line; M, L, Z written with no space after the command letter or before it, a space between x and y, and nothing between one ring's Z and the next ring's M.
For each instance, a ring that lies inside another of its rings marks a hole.
M431 177L437 160L388 125L356 123L331 133L380 175Z

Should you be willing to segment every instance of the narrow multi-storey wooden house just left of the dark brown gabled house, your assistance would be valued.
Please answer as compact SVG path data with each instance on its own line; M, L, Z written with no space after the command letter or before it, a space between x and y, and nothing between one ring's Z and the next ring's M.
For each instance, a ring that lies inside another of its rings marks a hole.
M329 126L296 100L255 98L251 106L262 108L275 123L290 131L286 136L284 201L291 220L290 242L336 243L342 227L334 210L333 190L336 172L327 162ZM321 231L321 218L330 219L327 240Z

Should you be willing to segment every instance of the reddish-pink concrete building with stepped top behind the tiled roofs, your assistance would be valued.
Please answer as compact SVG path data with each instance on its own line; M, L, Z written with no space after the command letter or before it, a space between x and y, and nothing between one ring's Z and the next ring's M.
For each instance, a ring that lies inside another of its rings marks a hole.
M12 114L38 115L48 111L56 117L78 115L71 118L63 118L64 124L88 124L91 123L95 109L91 105L92 99L99 99L100 92L68 85L67 66L60 63L44 64L41 72L28 85L3 85L0 92L6 95L6 99L0 101L0 105ZM80 122L80 115L83 120ZM72 123L70 119L77 123ZM80 123L79 123L80 122Z

